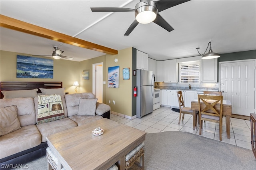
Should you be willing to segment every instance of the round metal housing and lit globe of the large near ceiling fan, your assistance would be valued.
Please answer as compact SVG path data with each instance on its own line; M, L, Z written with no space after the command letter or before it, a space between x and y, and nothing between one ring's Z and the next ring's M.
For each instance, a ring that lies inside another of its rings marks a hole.
M150 4L140 2L136 5L135 17L141 24L148 24L156 19L157 8L154 1L149 1Z

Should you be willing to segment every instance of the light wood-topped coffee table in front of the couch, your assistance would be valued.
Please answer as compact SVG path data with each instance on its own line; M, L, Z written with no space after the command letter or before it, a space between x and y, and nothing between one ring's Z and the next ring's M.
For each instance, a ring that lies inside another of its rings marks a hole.
M94 136L95 128L104 129L104 134ZM100 119L47 136L48 146L61 165L72 170L108 169L118 162L125 169L125 155L145 140L146 132L121 123ZM143 169L143 167L142 167Z

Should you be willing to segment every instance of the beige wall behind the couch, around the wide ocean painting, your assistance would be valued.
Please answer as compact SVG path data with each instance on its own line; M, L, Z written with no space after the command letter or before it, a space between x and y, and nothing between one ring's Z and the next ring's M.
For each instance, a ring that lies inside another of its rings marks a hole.
M24 53L16 53L10 51L0 51L0 81L62 81L65 92L69 94L75 93L73 83L79 81L79 62L69 61L65 59L54 59L53 61L53 79L31 79L16 78L16 62L18 55L26 55L31 57L46 58L41 56L32 56Z

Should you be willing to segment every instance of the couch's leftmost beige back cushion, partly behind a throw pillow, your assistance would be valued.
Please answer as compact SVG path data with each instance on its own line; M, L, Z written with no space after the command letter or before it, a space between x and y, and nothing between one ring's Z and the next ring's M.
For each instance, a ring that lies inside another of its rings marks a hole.
M36 124L36 113L33 98L0 99L1 108L12 105L16 105L18 108L17 114L21 127Z

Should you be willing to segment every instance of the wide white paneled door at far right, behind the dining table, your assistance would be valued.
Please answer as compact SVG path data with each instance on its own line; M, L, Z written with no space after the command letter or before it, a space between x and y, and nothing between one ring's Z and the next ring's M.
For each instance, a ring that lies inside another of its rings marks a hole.
M255 113L255 61L220 63L220 91L232 103L232 113Z

